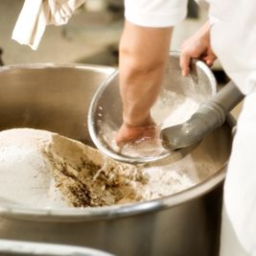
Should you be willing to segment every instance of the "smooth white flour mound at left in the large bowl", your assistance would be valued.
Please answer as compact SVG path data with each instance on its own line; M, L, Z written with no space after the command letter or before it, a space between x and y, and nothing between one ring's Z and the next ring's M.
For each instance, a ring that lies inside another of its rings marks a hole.
M50 166L40 151L50 134L30 129L0 132L1 198L32 207L67 205L56 190Z

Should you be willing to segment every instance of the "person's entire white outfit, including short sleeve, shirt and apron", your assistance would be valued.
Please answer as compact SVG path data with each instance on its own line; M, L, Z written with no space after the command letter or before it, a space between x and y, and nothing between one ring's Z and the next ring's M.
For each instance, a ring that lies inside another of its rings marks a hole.
M224 205L239 242L256 256L256 0L207 2L213 50L247 95L229 161ZM187 8L186 0L126 0L125 4L128 21L147 27L175 26Z

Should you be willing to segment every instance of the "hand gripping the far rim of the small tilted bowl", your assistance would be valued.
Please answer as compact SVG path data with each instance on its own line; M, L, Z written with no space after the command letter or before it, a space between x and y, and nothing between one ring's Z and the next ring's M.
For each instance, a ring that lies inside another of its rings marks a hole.
M191 58L200 58L209 66L215 61L216 56L211 48L210 26L210 23L206 22L195 35L181 45L180 67L182 76L189 74Z

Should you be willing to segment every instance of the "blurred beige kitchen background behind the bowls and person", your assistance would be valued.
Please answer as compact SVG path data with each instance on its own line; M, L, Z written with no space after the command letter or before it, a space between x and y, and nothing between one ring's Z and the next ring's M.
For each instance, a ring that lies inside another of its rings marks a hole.
M37 51L12 40L12 30L24 1L1 0L0 48L4 64L77 62L118 65L118 42L124 23L122 0L87 0L64 26L48 26ZM178 50L207 19L207 12L189 1L187 18L175 28L171 49ZM227 81L217 61L213 67L220 84ZM238 115L241 105L233 113Z

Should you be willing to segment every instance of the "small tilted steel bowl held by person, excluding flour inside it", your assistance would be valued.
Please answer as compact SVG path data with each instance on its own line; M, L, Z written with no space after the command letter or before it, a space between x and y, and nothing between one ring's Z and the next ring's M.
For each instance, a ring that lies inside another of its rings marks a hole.
M89 108L89 132L97 148L111 158L128 163L148 163L167 157L169 161L175 161L186 155L186 151L162 151L156 155L131 156L113 147L109 143L109 138L108 140L105 139L106 125L111 130L117 130L122 124L123 107L118 80L119 76L116 72L105 81L97 90ZM157 101L171 101L168 95L172 92L176 93L177 96L189 97L200 103L214 95L216 87L216 81L211 70L204 62L199 60L193 61L191 75L183 78L179 67L179 54L171 52L169 66ZM155 105L157 105L157 102ZM158 111L161 110L158 109Z

